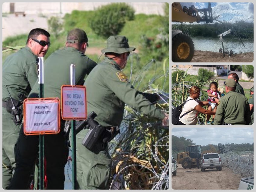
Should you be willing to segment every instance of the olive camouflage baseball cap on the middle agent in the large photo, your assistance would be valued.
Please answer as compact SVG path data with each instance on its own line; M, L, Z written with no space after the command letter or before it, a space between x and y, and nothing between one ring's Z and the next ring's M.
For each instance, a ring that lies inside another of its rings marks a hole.
M84 30L76 28L69 31L67 36L67 43L78 43L78 42L88 42L87 35Z

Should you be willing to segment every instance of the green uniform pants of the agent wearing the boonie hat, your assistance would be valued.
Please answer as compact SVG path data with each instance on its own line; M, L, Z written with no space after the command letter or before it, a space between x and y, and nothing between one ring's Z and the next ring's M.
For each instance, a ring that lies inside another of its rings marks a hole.
M111 158L107 145L97 143L94 152L82 145L88 130L76 135L78 189L109 189ZM104 148L104 149L103 149Z

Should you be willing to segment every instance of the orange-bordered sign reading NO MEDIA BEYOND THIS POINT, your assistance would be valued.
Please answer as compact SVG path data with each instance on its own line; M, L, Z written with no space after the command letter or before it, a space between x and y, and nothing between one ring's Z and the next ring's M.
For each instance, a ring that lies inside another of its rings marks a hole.
M85 86L61 86L61 116L64 120L86 119L87 107Z

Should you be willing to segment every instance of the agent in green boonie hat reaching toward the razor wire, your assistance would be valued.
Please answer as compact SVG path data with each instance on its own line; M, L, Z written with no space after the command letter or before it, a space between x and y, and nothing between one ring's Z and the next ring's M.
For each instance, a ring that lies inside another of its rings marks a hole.
M88 114L94 111L97 114L94 120L101 126L120 126L125 103L168 125L168 115L133 88L121 70L134 50L125 36L110 36L107 48L101 50L105 53L104 60L98 63L85 81ZM90 151L81 144L86 133L88 129L76 135L78 188L109 189L111 158L107 143L99 141Z

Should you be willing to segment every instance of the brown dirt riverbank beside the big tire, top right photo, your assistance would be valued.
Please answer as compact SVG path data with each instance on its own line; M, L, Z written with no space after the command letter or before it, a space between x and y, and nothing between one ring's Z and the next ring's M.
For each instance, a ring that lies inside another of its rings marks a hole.
M253 52L240 53L228 56L223 53L195 50L193 59L190 62L252 62Z

